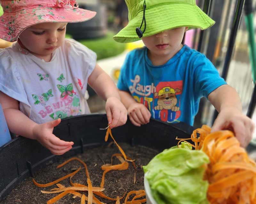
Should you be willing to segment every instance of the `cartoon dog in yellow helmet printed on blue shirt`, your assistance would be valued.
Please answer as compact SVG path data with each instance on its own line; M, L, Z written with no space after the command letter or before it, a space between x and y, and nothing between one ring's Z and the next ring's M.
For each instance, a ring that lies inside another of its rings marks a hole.
M155 110L172 110L177 112L180 110L180 107L177 107L178 100L176 98L176 93L179 93L180 89L172 89L171 87L164 87L158 93L154 93L154 97L158 97L157 106Z

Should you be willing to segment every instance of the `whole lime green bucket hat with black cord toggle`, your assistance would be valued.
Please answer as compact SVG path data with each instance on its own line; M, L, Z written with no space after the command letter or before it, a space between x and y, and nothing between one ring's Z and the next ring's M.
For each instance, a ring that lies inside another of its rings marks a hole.
M140 34L148 37L177 27L207 29L215 21L207 16L197 5L196 0L125 0L128 7L129 23L114 36L117 42L140 40ZM143 15L144 13L144 15ZM145 29L146 25L146 29Z

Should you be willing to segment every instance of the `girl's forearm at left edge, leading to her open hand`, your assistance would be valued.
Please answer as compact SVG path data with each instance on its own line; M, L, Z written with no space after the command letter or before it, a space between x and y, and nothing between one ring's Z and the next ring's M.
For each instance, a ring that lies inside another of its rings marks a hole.
M30 139L35 139L33 129L37 125L18 109L6 108L3 110L10 132Z

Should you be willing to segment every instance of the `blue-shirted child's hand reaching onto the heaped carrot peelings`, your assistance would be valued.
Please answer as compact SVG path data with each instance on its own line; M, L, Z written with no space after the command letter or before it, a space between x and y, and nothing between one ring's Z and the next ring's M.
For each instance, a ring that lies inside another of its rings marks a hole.
M231 130L234 132L241 146L245 148L252 140L254 126L250 118L245 116L238 109L230 107L220 111L214 121L211 132L226 129Z

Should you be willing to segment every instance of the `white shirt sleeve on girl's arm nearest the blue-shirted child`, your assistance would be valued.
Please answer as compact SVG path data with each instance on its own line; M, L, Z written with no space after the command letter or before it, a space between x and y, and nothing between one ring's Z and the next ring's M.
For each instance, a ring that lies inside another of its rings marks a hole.
M65 49L72 74L79 80L81 91L85 94L89 76L96 66L97 55L88 47L73 39L65 40Z

